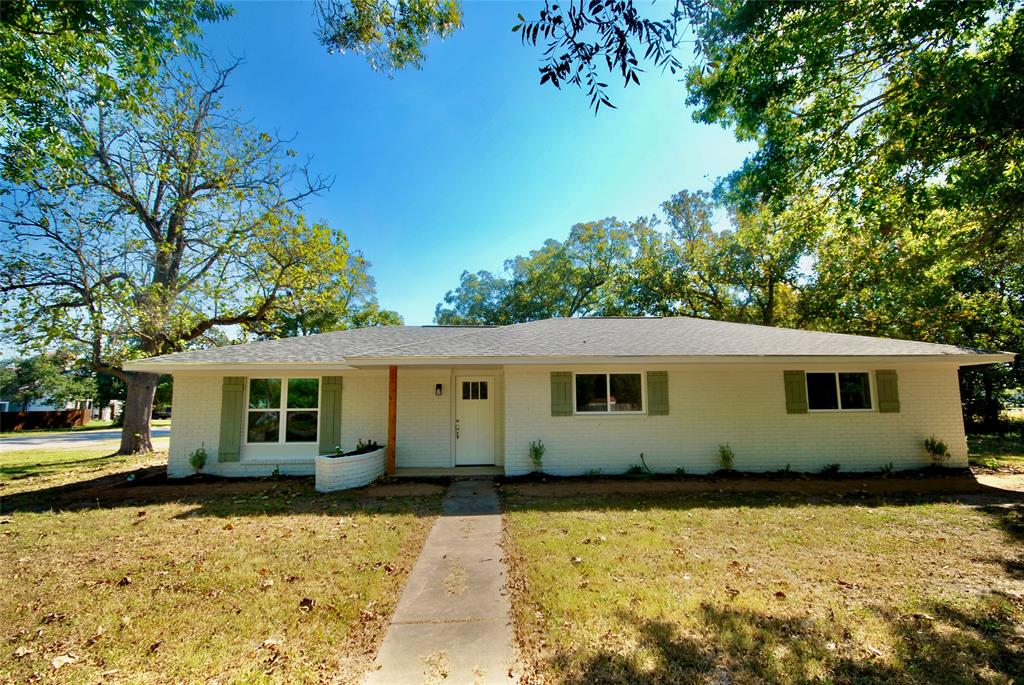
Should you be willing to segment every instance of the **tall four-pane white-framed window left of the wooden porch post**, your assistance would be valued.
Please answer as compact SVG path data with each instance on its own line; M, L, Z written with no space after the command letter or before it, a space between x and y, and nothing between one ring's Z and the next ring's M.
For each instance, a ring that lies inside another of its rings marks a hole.
M247 413L250 443L315 442L319 379L251 378Z

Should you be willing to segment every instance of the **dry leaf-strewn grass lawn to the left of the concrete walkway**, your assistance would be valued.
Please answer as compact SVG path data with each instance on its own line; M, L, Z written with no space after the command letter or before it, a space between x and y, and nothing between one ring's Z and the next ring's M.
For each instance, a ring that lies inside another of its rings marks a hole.
M0 455L0 682L355 682L439 510L32 455Z

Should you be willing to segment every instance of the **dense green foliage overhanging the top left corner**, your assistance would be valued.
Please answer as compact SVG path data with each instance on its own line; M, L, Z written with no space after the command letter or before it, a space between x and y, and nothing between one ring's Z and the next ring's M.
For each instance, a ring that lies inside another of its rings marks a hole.
M83 104L143 112L161 66L195 55L200 25L231 11L214 0L4 0L0 173L28 180L46 164L77 164L88 151L63 132L84 127Z

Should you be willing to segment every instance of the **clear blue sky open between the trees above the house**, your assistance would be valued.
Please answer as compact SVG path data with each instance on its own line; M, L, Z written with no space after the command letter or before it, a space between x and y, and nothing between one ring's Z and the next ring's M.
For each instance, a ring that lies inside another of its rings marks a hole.
M524 2L465 2L464 28L421 71L393 78L359 55L327 54L311 3L239 2L207 26L215 55L242 56L226 100L264 130L297 134L336 177L306 206L373 263L382 306L429 324L465 270L569 226L651 214L682 188L710 188L749 147L692 122L682 84L652 72L612 89L595 117L582 92L538 85L540 51L511 32ZM685 55L684 55L685 56Z

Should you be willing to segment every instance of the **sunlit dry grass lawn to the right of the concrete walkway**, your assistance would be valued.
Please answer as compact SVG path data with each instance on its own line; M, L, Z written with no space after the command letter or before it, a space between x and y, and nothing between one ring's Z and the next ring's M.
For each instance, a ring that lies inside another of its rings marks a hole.
M1024 677L1019 505L503 489L513 611L534 682Z

